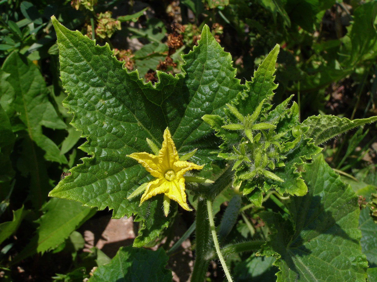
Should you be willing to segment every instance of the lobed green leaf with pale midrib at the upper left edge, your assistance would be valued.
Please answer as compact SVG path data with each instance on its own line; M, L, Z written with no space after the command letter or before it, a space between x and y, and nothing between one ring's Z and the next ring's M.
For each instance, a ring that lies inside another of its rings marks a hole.
M38 68L27 58L13 52L2 66L0 104L15 130L23 129L44 152L48 161L67 163L57 145L42 133L42 126L64 129L48 100L48 89Z

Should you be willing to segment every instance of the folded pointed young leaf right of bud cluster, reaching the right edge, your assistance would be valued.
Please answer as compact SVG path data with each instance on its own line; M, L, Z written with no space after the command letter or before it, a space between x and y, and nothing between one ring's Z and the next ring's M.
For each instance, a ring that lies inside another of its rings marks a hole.
M335 115L317 115L308 117L302 122L302 126L309 127L305 133L305 138L313 138L314 144L319 145L340 133L374 121L377 121L377 116L349 120Z

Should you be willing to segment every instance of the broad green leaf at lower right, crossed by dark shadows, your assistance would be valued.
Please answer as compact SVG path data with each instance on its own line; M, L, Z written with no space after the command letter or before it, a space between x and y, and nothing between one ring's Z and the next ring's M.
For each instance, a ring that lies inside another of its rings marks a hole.
M365 282L356 194L322 155L304 169L309 192L291 200L291 216L262 215L276 233L261 253L277 258L278 282Z

